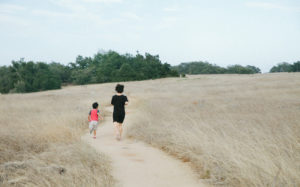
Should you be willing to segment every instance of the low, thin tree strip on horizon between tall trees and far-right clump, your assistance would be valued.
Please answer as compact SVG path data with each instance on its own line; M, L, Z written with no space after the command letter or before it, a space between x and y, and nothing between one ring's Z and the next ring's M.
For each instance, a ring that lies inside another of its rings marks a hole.
M187 62L173 67L180 74L254 74L261 73L255 66L231 65L227 68L210 64L208 62Z

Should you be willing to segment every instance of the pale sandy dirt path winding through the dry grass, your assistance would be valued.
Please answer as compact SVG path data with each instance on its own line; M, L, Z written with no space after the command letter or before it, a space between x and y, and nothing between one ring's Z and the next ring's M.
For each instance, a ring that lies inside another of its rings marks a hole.
M112 110L112 108L106 108ZM112 159L112 174L124 187L204 186L187 164L143 142L126 139L117 141L108 116L97 130L97 139L86 134L82 139ZM130 118L125 119L130 125Z

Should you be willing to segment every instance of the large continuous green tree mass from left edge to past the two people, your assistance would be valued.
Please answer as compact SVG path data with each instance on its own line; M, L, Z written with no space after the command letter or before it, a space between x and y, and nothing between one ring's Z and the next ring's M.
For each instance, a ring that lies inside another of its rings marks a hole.
M0 67L0 92L24 93L59 89L62 84L90 84L176 77L178 72L158 55L121 55L114 51L93 58L78 56L74 63L13 61Z

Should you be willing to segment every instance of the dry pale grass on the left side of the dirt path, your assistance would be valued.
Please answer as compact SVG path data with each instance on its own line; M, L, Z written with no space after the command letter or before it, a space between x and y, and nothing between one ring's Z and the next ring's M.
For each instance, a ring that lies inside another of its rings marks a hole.
M0 95L0 186L114 185L110 160L81 142L97 88Z

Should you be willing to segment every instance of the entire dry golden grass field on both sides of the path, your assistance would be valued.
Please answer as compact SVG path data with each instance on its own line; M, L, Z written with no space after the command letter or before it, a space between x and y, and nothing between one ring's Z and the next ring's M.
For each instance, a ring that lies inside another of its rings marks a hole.
M209 184L300 186L300 73L124 84L127 137L182 159ZM115 85L0 95L0 186L113 186L109 155L80 137L91 104L109 106Z

